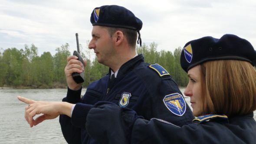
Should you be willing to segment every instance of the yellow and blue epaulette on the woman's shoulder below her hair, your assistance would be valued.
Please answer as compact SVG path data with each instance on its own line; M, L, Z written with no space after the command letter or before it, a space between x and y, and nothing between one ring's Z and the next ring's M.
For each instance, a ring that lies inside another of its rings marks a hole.
M204 121L211 121L211 120L228 120L226 115L201 115L195 118L193 121L199 121L200 123Z

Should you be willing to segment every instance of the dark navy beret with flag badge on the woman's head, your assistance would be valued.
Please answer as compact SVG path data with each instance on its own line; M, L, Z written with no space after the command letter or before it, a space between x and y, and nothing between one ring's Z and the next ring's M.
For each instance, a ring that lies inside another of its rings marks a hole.
M226 34L220 39L206 36L188 42L181 52L181 67L188 71L211 60L234 59L256 66L256 51L251 43L236 35Z

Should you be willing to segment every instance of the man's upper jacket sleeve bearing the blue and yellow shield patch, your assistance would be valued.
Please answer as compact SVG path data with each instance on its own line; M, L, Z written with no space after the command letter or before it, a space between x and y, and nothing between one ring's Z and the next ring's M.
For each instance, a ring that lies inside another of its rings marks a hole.
M145 109L144 111L151 111L151 113L149 113L150 117L148 116L146 119L159 118L178 126L190 124L194 119L192 111L170 75L165 75L161 78L157 75L154 84L148 85L148 91L150 99L145 98L142 106ZM175 101L175 103L171 103L172 101ZM177 107L177 105L179 107Z

